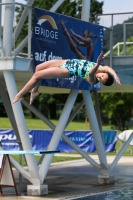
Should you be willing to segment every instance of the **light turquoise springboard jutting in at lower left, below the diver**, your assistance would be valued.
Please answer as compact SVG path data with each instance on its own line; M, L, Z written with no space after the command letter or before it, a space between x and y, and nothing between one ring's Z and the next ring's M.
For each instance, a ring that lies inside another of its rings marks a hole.
M0 154L55 154L60 153L58 150L46 150L46 151L37 151L37 150L21 150L21 151L0 151Z

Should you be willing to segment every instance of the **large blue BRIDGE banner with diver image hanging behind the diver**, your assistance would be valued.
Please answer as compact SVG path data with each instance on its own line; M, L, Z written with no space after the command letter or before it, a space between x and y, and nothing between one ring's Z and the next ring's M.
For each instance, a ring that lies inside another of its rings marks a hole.
M34 66L54 59L78 58L96 62L100 52L103 52L103 27L34 8L32 48ZM78 90L100 89L100 83L92 87L79 77L45 79L41 85Z

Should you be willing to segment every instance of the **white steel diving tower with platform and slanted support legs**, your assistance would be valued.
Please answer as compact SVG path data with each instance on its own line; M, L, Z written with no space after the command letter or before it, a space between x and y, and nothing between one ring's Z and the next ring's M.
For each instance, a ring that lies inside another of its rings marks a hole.
M53 6L50 11L55 12L57 8L63 3L64 0L58 0L56 6ZM0 57L0 97L6 109L7 115L11 121L11 125L15 132L16 138L18 141L21 141L20 150L27 152L27 149L32 151L32 145L28 134L28 128L25 121L25 116L21 103L26 106L30 111L32 111L40 120L47 124L50 129L54 130L53 136L47 147L47 152L53 150L52 153L47 155L42 154L38 163L35 160L34 152L33 154L25 152L25 159L27 161L28 171L21 166L16 160L10 157L11 164L23 175L27 180L32 184L30 190L35 191L38 189L39 192L43 190L42 185L48 173L50 164L53 159L54 150L57 149L58 143L62 138L67 144L69 144L76 152L82 155L97 171L102 175L102 184L106 183L106 178L110 180L112 177L111 173L116 166L118 160L122 156L122 153L126 150L127 145L129 145L132 140L133 135L129 138L126 145L121 150L120 154L117 155L116 159L109 165L107 162L103 135L102 135L102 125L100 119L99 105L97 94L95 93L95 102L96 102L96 112L94 109L93 101L91 98L91 92L89 89L75 89L69 87L66 88L57 88L49 86L41 86L39 88L40 93L68 93L68 98L66 99L65 105L62 109L62 113L59 117L58 124L55 126L43 113L40 113L33 105L29 105L25 99L21 102L18 101L15 104L12 104L12 101L18 90L20 90L31 78L34 73L33 70L33 60L31 56L31 19L32 19L32 5L34 0L28 0L27 4L24 6L24 11L22 16L15 27L14 26L14 8L15 0L6 0L5 3L5 21L3 27L3 42L1 45L1 57ZM2 5L2 4L0 4ZM82 20L88 21L89 19L89 9L90 1L83 1L83 10L82 10ZM42 9L41 9L42 10ZM17 40L18 35L25 23L26 18L28 17L28 35L25 39L15 48L15 41ZM48 17L47 17L48 19ZM87 19L87 20L86 20ZM0 24L1 27L1 24ZM51 26L50 26L51 27ZM0 29L1 31L1 29ZM99 28L99 35L102 32L102 28ZM103 33L103 32L102 32ZM1 36L1 34L0 34ZM102 36L102 35L101 35ZM1 39L1 38L0 38ZM42 41L42 40L41 40ZM103 38L100 38L100 42L103 41ZM1 41L0 41L1 42ZM21 50L28 46L28 58L19 57ZM53 47L53 45L52 45ZM14 50L14 51L13 51ZM66 51L66 50L65 50ZM50 52L48 55L51 55ZM44 55L43 55L44 59ZM98 92L132 92L133 91L133 80L132 80L132 68L133 68L133 59L132 57L112 57L110 60L109 57L105 57L105 64L110 66L110 61L112 61L112 68L115 69L121 79L122 85L113 84L111 87L101 86L101 89ZM41 60L42 61L42 60ZM130 68L130 70L128 70ZM73 83L72 83L73 84ZM85 82L86 85L86 82ZM99 84L100 85L100 84ZM77 85L76 85L77 86ZM90 85L89 85L90 86ZM79 103L78 106L74 106L78 93L81 92L83 95L83 100ZM70 140L65 134L64 130L67 125L74 119L82 106L86 107L86 114L88 116L89 122L91 124L91 129L94 136L95 146L98 154L98 162L91 158L86 152L84 152L78 145L76 145L72 140ZM97 115L96 115L97 114ZM3 151L0 147L1 152ZM3 153L6 153L5 151ZM16 152L17 153L17 152ZM24 152L22 152L23 154ZM40 152L39 152L40 153ZM38 168L38 165L40 167ZM88 171L89 173L89 171ZM114 180L113 180L114 181ZM110 182L109 182L110 183ZM112 183L112 182L111 182ZM45 187L45 185L44 185ZM46 186L47 188L47 186ZM46 191L47 192L47 191ZM39 193L39 195L41 195ZM46 193L45 193L46 194ZM34 195L34 194L32 194Z

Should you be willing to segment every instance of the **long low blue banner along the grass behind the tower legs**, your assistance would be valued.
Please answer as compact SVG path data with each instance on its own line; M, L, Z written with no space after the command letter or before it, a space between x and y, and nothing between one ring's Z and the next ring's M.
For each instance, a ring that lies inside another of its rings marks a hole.
M29 130L28 132L33 150L45 150L53 135L52 130ZM64 134L84 152L96 151L92 131L65 131ZM106 152L114 151L117 141L117 131L103 131L103 135ZM0 142L4 150L19 150L19 143L16 141L13 130L1 129ZM57 149L61 152L75 152L62 138L60 139Z

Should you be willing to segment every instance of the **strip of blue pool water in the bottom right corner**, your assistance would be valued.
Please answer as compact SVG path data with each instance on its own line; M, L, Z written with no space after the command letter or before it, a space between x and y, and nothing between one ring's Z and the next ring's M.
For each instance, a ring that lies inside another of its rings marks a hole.
M133 200L133 187L78 197L75 200Z

